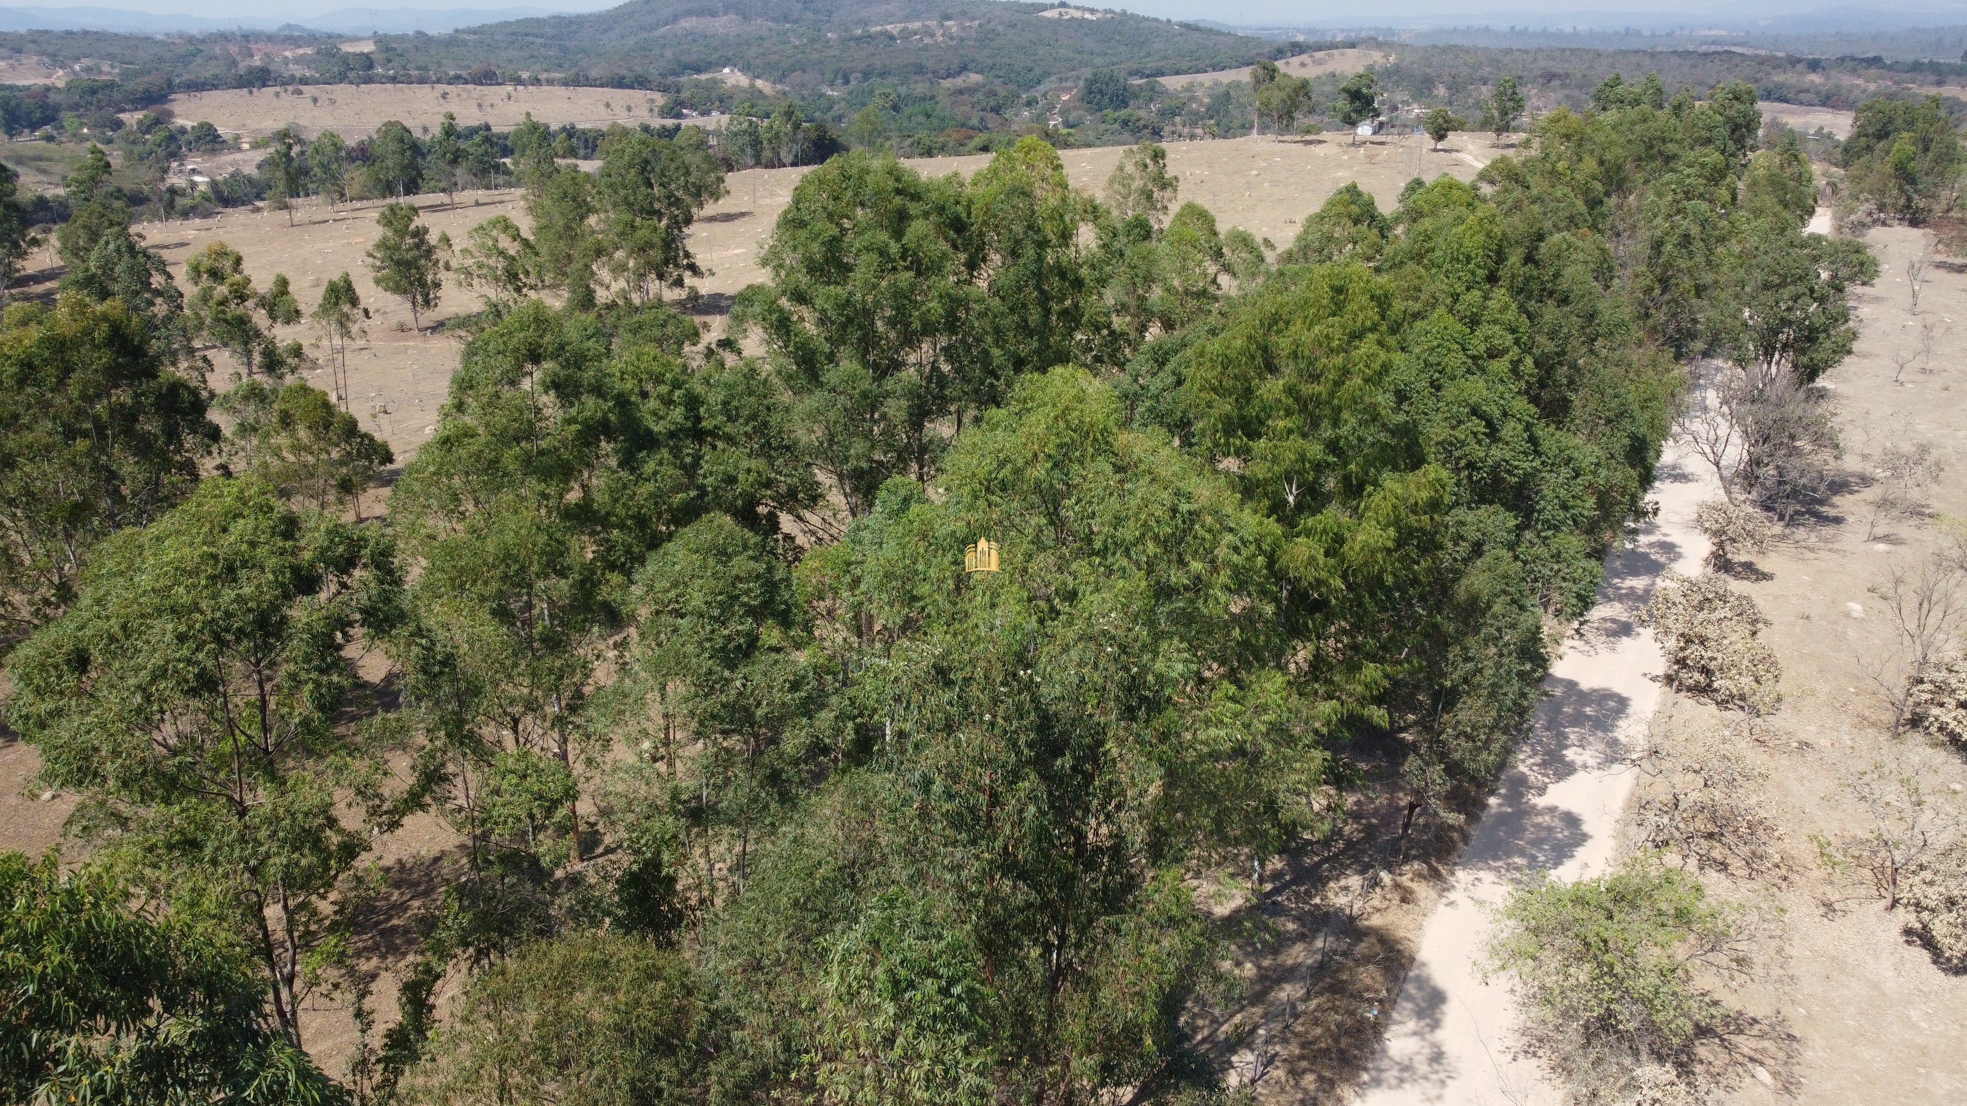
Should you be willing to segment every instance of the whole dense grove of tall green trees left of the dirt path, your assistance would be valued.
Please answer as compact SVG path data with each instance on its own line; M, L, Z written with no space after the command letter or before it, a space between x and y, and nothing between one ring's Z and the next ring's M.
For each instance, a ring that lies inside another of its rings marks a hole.
M484 301L382 517L350 505L387 448L277 340L346 342L346 277L307 304L212 242L187 295L102 159L59 295L0 330L4 721L83 796L77 868L0 862L0 988L89 996L0 1004L8 1086L1233 1100L1188 1020L1235 986L1225 904L1369 788L1454 841L1682 365L1790 395L1851 348L1877 267L1804 234L1794 136L1745 83L1658 88L1473 185L1341 189L1284 249L1155 143L1100 198L1035 136L970 179L846 149L710 344L669 299L726 191L702 130L614 128L594 173L486 145L527 226L380 212L391 295L450 261ZM1867 130L1886 175L1928 122ZM468 157L401 138L403 181ZM409 819L452 845L378 965ZM348 1071L301 1051L323 996Z

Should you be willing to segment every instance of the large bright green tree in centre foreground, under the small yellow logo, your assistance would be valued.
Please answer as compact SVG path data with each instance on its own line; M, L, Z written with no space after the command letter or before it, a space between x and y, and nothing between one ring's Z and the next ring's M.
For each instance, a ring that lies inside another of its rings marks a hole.
M856 674L856 731L899 792L885 817L915 839L895 886L934 898L936 949L960 955L942 982L879 984L911 988L895 1022L822 1029L822 1077L865 1094L987 1065L997 1086L1086 1098L1170 1055L1166 1012L1210 978L1212 945L1180 864L1267 853L1316 817L1328 715L1253 664L1269 526L1084 371L1021 385L938 487L891 481L806 566L818 640ZM1003 542L1001 578L936 552L978 532ZM877 949L923 963L923 910L858 908L834 994L883 970ZM862 1039L899 1071L842 1055Z

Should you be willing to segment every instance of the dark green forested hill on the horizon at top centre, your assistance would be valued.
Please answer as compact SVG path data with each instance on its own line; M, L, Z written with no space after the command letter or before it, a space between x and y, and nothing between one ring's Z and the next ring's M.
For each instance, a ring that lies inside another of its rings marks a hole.
M633 0L608 12L382 35L397 69L580 73L665 79L726 65L787 84L950 81L1015 88L1115 67L1164 77L1249 65L1294 47L1192 24L1100 12L1048 18L1050 4L997 0ZM401 59L401 63L397 63Z

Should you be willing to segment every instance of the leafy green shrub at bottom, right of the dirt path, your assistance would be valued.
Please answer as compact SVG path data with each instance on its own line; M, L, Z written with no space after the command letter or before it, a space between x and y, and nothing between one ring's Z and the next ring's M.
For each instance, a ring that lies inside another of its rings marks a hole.
M1725 1029L1696 974L1745 972L1741 931L1737 908L1646 858L1578 882L1542 872L1503 904L1485 968L1513 978L1580 1098L1631 1100L1658 1090L1639 1086L1644 1069L1688 1073L1694 1043Z

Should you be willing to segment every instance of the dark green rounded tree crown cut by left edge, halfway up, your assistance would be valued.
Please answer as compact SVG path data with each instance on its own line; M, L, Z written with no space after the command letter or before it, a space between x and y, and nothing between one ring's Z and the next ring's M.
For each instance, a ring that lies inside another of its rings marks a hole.
M218 440L122 303L16 304L0 332L0 642L59 615L96 544L153 523Z

